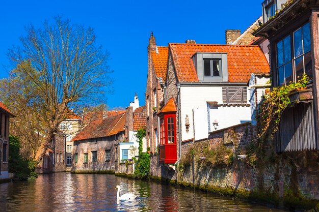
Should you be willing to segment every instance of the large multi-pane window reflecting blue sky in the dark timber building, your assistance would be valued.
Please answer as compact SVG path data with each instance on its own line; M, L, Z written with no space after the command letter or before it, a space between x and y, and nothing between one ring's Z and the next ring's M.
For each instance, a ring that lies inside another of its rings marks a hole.
M303 73L312 79L309 22L277 42L276 50L277 84L279 86L299 80Z

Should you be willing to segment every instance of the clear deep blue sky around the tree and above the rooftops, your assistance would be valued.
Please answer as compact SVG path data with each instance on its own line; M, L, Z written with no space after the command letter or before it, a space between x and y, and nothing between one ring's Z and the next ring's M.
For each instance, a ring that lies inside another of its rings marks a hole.
M147 45L150 32L158 46L168 43L225 43L226 29L245 31L260 15L261 2L245 1L11 1L0 2L0 78L8 76L10 63L6 53L24 26L40 26L57 15L94 28L97 43L111 55L114 72L113 94L107 94L110 107L126 107L137 92L145 104Z

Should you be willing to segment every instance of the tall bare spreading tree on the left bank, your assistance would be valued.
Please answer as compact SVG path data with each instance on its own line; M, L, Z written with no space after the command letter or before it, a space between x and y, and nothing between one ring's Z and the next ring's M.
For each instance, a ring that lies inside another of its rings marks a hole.
M9 51L17 68L1 83L8 92L2 95L15 114L23 111L15 120L23 126L16 126L17 131L21 135L31 131L26 136L31 138L34 132L40 135L33 153L40 162L68 110L101 99L111 83L110 68L108 53L96 46L92 28L58 17L54 23L45 21L41 28L30 25L26 33L20 38L22 46ZM23 124L28 119L36 130Z

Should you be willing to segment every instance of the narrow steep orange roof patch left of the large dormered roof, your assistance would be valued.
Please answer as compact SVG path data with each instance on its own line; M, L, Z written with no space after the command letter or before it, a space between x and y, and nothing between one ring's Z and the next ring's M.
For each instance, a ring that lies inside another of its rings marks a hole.
M167 59L168 59L168 47L157 46L157 52L152 51L152 60L157 77L166 78L167 72Z

